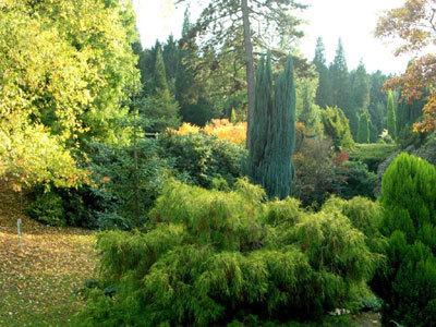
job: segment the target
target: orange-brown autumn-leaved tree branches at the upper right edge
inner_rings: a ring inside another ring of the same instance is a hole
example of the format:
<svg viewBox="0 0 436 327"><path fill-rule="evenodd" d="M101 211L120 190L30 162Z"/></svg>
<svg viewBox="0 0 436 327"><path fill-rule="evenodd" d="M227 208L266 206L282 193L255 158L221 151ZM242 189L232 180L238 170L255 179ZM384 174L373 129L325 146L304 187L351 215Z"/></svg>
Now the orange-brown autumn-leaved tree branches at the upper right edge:
<svg viewBox="0 0 436 327"><path fill-rule="evenodd" d="M403 7L392 9L379 19L375 36L402 40L396 56L423 51L436 41L435 11L435 0L407 0ZM401 95L408 102L424 97L424 121L415 124L415 132L436 129L435 65L435 55L422 56L411 62L403 75L390 78L384 87L385 90L401 87ZM425 92L428 92L427 96Z"/></svg>

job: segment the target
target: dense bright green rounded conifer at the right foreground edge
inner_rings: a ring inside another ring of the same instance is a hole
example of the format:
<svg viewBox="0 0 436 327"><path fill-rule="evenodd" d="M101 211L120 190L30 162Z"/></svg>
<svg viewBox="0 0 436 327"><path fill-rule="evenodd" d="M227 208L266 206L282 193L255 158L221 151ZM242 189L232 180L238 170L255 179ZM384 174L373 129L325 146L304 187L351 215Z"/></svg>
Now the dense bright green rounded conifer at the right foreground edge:
<svg viewBox="0 0 436 327"><path fill-rule="evenodd" d="M436 171L423 159L401 154L382 184L387 266L374 288L385 301L386 322L433 326L436 322Z"/></svg>

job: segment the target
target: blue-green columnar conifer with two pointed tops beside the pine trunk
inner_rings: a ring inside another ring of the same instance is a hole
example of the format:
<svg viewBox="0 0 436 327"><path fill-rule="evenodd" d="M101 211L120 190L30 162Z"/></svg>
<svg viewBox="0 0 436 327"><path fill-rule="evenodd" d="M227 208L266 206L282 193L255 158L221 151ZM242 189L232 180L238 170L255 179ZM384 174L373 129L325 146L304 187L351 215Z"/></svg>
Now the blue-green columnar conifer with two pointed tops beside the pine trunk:
<svg viewBox="0 0 436 327"><path fill-rule="evenodd" d="M293 62L289 56L278 76L272 100L270 52L262 57L256 75L256 106L250 126L249 170L269 197L286 198L294 175L295 87Z"/></svg>

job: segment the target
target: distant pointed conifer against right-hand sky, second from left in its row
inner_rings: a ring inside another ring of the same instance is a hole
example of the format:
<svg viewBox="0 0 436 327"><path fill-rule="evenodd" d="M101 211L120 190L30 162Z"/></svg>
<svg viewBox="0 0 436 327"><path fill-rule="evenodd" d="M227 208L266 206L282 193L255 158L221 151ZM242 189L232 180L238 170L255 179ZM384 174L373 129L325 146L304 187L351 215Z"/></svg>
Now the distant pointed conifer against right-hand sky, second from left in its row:
<svg viewBox="0 0 436 327"><path fill-rule="evenodd" d="M351 106L351 86L342 40L339 38L334 62L330 64L332 104L343 110L350 121L351 134L358 132L358 114Z"/></svg>

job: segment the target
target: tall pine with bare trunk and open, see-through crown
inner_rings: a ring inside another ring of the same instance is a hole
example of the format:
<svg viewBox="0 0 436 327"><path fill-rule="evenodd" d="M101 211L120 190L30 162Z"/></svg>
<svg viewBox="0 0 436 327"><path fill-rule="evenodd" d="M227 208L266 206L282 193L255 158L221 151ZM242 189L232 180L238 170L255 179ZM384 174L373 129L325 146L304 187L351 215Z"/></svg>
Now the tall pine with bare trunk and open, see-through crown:
<svg viewBox="0 0 436 327"><path fill-rule="evenodd" d="M177 3L185 2L179 0ZM230 1L205 1L205 8L192 29L192 35L199 35L203 51L220 49L229 36L242 35L242 43L235 43L228 51L244 53L239 60L245 65L249 112L247 121L255 106L255 74L253 46L258 49L271 48L274 46L272 35L279 35L288 43L302 36L296 29L301 21L291 15L292 9L304 9L305 5L294 0L230 0ZM252 28L254 25L254 28ZM225 27L226 26L226 27ZM243 45L243 51L241 50ZM217 55L226 52L217 51ZM250 129L247 129L250 131ZM250 133L247 134L247 146L250 146Z"/></svg>

